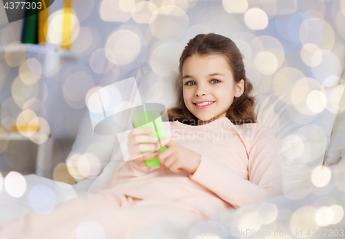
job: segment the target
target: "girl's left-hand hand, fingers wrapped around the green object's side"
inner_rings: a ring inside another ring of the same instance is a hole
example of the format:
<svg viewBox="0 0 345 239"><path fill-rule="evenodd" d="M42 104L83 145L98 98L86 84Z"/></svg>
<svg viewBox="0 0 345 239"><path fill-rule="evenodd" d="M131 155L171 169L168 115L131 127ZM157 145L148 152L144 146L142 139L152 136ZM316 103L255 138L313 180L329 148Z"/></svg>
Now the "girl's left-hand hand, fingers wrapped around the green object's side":
<svg viewBox="0 0 345 239"><path fill-rule="evenodd" d="M158 153L152 152L143 156L142 152L157 151L159 149L158 138L148 135L152 133L152 128L134 128L128 134L128 153L130 160L139 166L146 166L145 160L150 160L156 157ZM140 143L155 143L155 144L140 144Z"/></svg>

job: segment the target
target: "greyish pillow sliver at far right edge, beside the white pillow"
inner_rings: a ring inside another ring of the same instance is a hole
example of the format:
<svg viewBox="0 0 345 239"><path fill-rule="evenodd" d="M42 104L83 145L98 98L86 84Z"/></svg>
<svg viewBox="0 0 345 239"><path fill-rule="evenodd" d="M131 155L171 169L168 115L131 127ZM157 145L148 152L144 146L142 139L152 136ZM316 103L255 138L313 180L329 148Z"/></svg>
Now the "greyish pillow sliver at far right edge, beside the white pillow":
<svg viewBox="0 0 345 239"><path fill-rule="evenodd" d="M345 87L345 85L342 85ZM345 92L340 99L339 111L335 118L331 142L329 143L324 158L326 165L337 164L342 159L342 153L345 157Z"/></svg>

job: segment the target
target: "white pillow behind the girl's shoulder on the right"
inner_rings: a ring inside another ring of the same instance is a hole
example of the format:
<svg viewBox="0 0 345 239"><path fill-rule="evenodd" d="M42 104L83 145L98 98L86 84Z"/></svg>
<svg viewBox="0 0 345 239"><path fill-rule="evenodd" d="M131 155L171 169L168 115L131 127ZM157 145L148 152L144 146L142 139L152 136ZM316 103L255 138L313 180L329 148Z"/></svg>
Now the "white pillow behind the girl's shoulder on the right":
<svg viewBox="0 0 345 239"><path fill-rule="evenodd" d="M311 172L322 165L343 91L342 86L330 86L255 96L257 122L273 128L277 136L286 195L311 185ZM290 197L303 198L310 190Z"/></svg>

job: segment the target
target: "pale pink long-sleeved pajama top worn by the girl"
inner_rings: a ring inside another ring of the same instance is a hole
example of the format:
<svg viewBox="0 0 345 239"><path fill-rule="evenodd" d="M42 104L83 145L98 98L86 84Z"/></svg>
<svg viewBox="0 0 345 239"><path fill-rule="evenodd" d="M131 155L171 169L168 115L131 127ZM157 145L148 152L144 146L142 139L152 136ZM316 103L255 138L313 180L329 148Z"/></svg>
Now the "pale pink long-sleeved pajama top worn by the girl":
<svg viewBox="0 0 345 239"><path fill-rule="evenodd" d="M173 173L128 161L109 188L132 198L188 205L208 218L282 194L277 139L270 128L234 125L227 117L200 126L169 123L171 139L201 155L195 173Z"/></svg>

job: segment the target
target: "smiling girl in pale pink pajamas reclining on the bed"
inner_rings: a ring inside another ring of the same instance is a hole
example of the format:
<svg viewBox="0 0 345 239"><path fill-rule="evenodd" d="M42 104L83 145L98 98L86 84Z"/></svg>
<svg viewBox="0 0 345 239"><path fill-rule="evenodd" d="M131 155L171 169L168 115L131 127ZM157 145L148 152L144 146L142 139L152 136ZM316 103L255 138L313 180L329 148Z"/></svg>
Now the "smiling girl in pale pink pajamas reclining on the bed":
<svg viewBox="0 0 345 239"><path fill-rule="evenodd" d="M77 238L92 225L120 238L162 220L186 227L281 194L277 140L255 123L252 88L233 41L214 33L190 39L180 58L177 106L168 109L168 149L142 156L159 142L150 128L133 129L131 160L117 166L107 189L49 215L30 213L0 228L0 238ZM161 167L146 166L155 156Z"/></svg>

